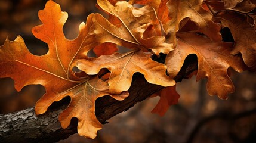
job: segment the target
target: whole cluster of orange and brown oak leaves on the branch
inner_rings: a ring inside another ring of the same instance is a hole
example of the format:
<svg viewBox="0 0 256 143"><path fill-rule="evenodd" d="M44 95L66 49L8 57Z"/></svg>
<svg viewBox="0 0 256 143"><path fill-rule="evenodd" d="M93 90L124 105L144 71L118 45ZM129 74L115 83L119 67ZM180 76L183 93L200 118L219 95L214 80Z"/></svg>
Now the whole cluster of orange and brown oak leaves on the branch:
<svg viewBox="0 0 256 143"><path fill-rule="evenodd" d="M95 138L102 128L94 113L95 100L105 95L124 100L134 73L166 87L157 93L161 98L152 111L163 116L178 102L174 77L190 54L198 58L196 80L207 78L208 93L222 99L235 90L229 67L238 72L256 68L256 1L98 0L96 6L108 17L88 15L77 38L70 40L63 33L67 13L48 1L38 13L42 24L32 29L48 44L45 55L30 54L21 36L0 47L0 77L13 78L17 91L32 84L45 87L36 114L70 96L59 120L67 128L76 117L79 135ZM224 27L230 29L233 42L222 40ZM119 53L121 46L129 52ZM88 56L91 50L97 57ZM162 55L162 63L152 58ZM74 67L81 71L74 72Z"/></svg>

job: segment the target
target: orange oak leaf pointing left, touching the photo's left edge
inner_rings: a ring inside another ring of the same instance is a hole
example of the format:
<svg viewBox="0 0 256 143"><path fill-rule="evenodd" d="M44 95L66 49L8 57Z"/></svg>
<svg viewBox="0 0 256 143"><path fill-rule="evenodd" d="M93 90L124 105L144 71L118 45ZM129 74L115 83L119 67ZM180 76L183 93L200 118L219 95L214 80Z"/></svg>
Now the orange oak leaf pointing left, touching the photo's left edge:
<svg viewBox="0 0 256 143"><path fill-rule="evenodd" d="M57 55L51 55L50 52L42 56L30 54L20 36L14 41L7 39L0 47L0 55L0 77L13 78L17 91L26 85L41 84L46 88L45 96L53 97L55 92L81 83L65 77L66 73L57 60Z"/></svg>

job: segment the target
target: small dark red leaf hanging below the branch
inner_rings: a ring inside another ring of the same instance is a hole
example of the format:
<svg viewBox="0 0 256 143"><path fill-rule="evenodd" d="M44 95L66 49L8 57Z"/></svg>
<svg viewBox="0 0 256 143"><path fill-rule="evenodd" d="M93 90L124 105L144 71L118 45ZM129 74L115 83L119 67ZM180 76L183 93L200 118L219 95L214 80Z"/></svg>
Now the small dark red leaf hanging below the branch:
<svg viewBox="0 0 256 143"><path fill-rule="evenodd" d="M164 116L171 105L178 104L178 98L180 98L180 95L176 91L176 85L168 86L161 91L156 92L153 96L159 96L160 100L151 112L159 114L159 116Z"/></svg>

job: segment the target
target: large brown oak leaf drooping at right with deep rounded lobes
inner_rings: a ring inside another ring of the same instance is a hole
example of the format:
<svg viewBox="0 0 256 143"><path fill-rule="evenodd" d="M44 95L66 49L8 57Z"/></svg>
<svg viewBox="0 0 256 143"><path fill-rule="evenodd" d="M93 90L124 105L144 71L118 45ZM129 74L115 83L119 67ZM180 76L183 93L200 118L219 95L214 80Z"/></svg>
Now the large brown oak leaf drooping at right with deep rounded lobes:
<svg viewBox="0 0 256 143"><path fill-rule="evenodd" d="M209 95L218 95L222 99L234 92L227 69L232 67L238 72L245 69L245 64L239 55L231 55L233 43L215 42L196 33L177 35L177 47L166 57L168 74L175 77L183 66L185 58L190 54L198 57L198 73L196 80L208 78L207 90Z"/></svg>

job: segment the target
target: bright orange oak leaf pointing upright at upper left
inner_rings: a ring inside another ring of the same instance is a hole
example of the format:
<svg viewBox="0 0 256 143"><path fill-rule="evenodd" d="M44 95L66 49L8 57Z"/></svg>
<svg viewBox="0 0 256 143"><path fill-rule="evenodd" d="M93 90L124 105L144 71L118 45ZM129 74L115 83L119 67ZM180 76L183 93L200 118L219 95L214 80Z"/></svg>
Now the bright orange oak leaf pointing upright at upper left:
<svg viewBox="0 0 256 143"><path fill-rule="evenodd" d="M72 62L85 57L87 52L96 45L93 33L94 25L92 24L94 14L88 16L87 25L80 24L79 36L72 41L66 39L63 33L67 13L60 10L60 5L48 1L45 9L38 12L38 16L43 24L33 27L33 35L48 44L48 59L57 60L55 62L61 66L60 70L64 71L63 77L67 76L67 79L78 80L72 73ZM53 66L55 67L57 64L53 63Z"/></svg>

